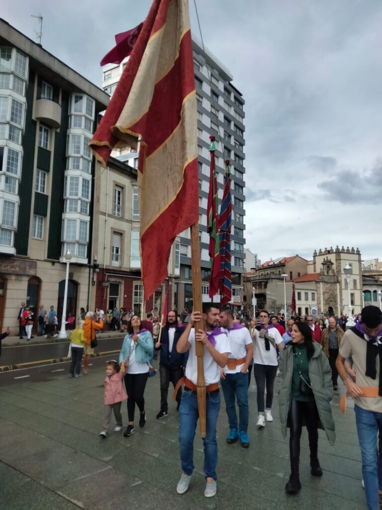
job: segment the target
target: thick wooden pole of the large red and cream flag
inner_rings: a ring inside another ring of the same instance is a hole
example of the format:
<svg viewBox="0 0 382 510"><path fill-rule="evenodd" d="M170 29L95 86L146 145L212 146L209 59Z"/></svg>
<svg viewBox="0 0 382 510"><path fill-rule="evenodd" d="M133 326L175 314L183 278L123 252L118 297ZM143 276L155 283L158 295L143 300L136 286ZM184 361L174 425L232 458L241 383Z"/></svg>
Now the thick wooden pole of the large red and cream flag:
<svg viewBox="0 0 382 510"><path fill-rule="evenodd" d="M193 273L193 309L202 313L202 278L200 274L200 247L199 247L199 223L191 226L191 268ZM203 320L196 322L195 333L198 329L203 329ZM198 379L197 396L200 434L202 438L206 437L206 382L204 380L203 354L204 346L202 342L195 342L195 351L198 358Z"/></svg>

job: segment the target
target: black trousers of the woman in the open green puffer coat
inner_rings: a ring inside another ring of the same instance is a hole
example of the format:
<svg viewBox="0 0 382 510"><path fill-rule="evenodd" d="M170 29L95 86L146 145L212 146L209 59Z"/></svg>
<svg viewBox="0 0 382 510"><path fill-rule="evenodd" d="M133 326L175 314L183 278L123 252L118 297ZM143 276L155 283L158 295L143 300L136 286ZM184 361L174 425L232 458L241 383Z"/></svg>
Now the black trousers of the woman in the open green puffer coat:
<svg viewBox="0 0 382 510"><path fill-rule="evenodd" d="M289 455L292 476L298 476L298 462L300 458L300 438L303 429L303 419L308 430L311 461L317 458L318 450L318 410L314 398L308 402L292 400L290 403L288 423L290 427Z"/></svg>

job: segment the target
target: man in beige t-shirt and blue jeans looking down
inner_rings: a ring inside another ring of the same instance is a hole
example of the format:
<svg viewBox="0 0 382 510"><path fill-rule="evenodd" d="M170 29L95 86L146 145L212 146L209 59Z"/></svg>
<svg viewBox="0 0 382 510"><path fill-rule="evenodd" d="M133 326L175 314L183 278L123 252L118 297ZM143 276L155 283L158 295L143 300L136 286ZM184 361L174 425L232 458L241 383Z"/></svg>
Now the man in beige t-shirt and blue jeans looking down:
<svg viewBox="0 0 382 510"><path fill-rule="evenodd" d="M377 432L382 426L382 312L369 305L361 312L361 321L351 327L342 338L337 370L347 392L356 400L354 411L358 440L362 455L362 475L369 510L378 510L382 501L382 473L377 469ZM351 356L356 382L346 373L344 363ZM364 396L362 388L376 388L378 396ZM380 480L378 484L378 478Z"/></svg>

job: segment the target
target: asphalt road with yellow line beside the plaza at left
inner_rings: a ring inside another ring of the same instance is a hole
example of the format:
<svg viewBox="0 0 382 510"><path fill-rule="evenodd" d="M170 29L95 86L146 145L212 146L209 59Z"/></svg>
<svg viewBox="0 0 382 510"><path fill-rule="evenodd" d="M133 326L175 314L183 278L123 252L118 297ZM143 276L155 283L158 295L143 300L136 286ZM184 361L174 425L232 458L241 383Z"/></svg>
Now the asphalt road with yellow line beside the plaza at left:
<svg viewBox="0 0 382 510"><path fill-rule="evenodd" d="M100 367L105 357L115 358L122 346L123 336L114 338L98 338L95 349L97 356L92 358L93 366ZM0 358L0 387L4 387L25 379L33 381L49 380L54 375L69 374L70 361L58 361L66 358L69 350L69 341L52 342L44 344L14 345L3 347ZM20 368L4 370L1 367Z"/></svg>

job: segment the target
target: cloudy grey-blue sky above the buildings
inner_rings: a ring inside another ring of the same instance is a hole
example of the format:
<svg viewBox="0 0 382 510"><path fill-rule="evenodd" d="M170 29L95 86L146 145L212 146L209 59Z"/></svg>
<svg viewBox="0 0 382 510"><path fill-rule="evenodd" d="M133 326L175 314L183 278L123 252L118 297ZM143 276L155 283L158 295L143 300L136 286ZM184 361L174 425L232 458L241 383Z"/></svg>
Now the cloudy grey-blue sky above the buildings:
<svg viewBox="0 0 382 510"><path fill-rule="evenodd" d="M380 0L196 0L245 99L246 246L262 261L337 244L382 258ZM65 9L63 9L65 5ZM1 17L101 84L114 35L151 0L13 0ZM194 0L192 31L200 38Z"/></svg>

